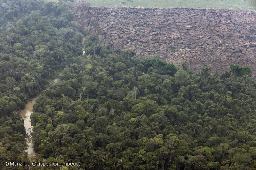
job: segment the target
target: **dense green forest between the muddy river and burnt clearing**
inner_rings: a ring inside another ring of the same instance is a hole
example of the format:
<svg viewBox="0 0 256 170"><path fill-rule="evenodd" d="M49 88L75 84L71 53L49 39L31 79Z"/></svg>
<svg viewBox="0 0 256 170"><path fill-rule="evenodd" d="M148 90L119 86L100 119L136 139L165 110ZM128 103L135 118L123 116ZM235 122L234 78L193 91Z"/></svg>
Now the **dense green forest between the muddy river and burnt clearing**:
<svg viewBox="0 0 256 170"><path fill-rule="evenodd" d="M85 169L254 168L252 78L219 79L208 67L192 74L111 47L94 55L95 46L106 48L97 42L88 37L92 53L78 56L34 105L41 112L31 116L35 148L43 158L62 155Z"/></svg>

